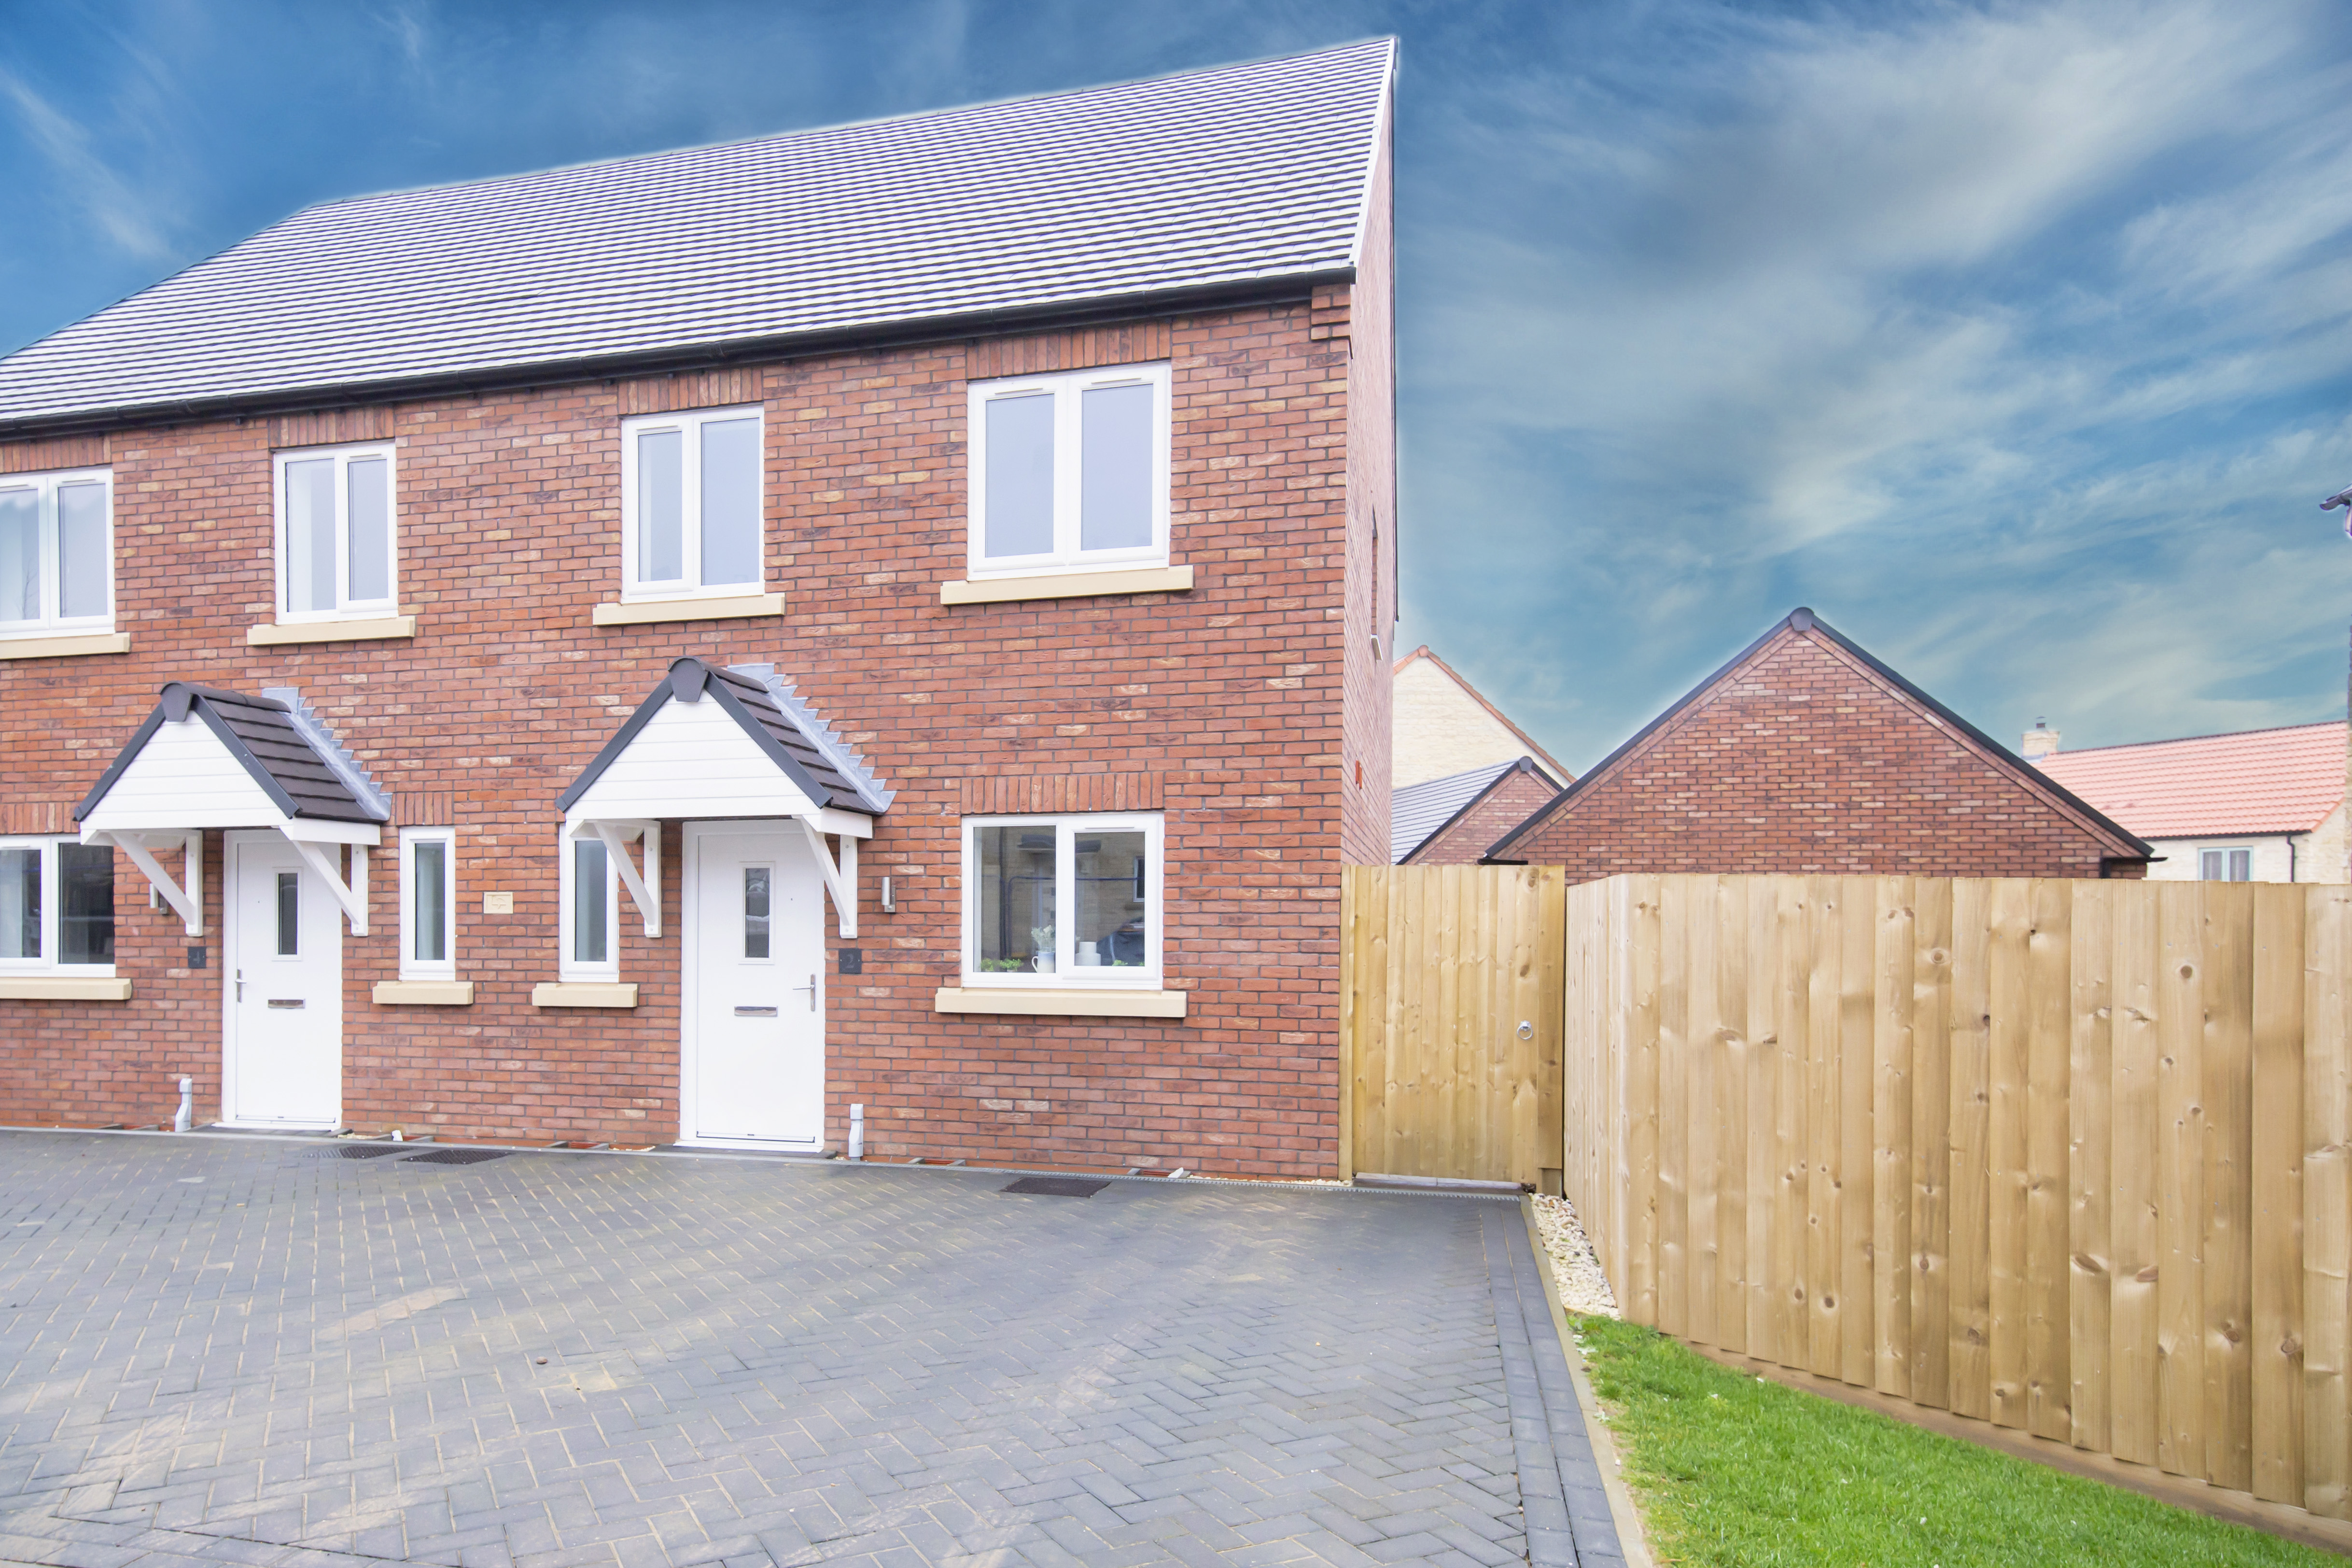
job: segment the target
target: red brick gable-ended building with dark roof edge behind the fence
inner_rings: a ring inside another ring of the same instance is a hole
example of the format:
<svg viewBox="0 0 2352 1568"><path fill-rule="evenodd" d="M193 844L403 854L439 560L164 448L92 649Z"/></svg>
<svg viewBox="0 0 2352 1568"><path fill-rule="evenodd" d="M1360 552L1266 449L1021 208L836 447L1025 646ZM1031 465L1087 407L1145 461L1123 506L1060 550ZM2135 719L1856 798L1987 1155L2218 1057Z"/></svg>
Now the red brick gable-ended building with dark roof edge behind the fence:
<svg viewBox="0 0 2352 1568"><path fill-rule="evenodd" d="M1799 609L1486 851L1616 872L2140 877L2154 851Z"/></svg>

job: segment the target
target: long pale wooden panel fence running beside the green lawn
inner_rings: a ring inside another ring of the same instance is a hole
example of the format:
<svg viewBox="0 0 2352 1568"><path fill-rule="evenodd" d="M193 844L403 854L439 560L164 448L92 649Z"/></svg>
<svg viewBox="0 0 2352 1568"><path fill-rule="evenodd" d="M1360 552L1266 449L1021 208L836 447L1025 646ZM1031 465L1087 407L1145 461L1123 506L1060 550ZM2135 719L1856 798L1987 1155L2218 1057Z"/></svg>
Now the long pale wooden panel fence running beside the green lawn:
<svg viewBox="0 0 2352 1568"><path fill-rule="evenodd" d="M2352 889L1566 891L1562 1168L1635 1321L2352 1516Z"/></svg>

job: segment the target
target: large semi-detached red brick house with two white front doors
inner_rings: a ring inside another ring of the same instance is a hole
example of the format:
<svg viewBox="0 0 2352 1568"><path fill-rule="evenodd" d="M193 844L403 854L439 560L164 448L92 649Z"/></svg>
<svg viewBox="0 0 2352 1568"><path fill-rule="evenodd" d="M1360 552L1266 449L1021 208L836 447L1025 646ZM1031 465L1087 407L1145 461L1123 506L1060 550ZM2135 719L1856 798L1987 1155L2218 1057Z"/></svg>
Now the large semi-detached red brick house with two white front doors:
<svg viewBox="0 0 2352 1568"><path fill-rule="evenodd" d="M1392 71L329 202L0 362L0 1119L1327 1173Z"/></svg>

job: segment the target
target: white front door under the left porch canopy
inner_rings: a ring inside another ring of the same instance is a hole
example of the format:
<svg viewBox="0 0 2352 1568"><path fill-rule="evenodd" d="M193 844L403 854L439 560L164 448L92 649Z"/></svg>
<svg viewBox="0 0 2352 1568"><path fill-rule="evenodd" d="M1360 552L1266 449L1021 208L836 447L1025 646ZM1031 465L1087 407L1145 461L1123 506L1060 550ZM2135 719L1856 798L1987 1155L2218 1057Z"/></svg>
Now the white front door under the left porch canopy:
<svg viewBox="0 0 2352 1568"><path fill-rule="evenodd" d="M343 1117L343 914L275 832L228 835L221 950L226 1119L336 1126Z"/></svg>

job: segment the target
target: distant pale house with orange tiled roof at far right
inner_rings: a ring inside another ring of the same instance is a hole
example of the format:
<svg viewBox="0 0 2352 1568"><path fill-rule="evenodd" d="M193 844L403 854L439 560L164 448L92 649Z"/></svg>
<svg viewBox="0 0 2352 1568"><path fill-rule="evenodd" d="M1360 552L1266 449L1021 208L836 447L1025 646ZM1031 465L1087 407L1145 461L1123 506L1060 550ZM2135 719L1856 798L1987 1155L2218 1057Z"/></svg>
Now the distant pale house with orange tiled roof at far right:
<svg viewBox="0 0 2352 1568"><path fill-rule="evenodd" d="M2079 752L2037 724L2025 755L2147 839L2150 879L2352 882L2340 719Z"/></svg>

